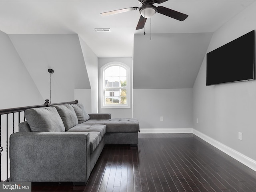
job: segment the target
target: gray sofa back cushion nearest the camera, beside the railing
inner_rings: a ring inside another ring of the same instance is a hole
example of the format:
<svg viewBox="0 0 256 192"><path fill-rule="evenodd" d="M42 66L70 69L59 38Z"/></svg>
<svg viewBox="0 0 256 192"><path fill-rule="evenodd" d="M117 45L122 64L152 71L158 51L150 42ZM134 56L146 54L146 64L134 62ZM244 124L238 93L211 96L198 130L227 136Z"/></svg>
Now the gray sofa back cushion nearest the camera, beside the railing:
<svg viewBox="0 0 256 192"><path fill-rule="evenodd" d="M24 116L32 132L64 132L64 124L54 107L28 109Z"/></svg>

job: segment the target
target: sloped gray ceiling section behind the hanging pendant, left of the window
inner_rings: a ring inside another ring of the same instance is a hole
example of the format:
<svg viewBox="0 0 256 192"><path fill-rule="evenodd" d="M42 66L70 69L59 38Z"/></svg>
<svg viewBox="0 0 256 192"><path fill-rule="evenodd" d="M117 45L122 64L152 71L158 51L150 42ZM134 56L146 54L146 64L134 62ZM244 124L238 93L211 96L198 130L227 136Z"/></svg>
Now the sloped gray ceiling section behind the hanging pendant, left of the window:
<svg viewBox="0 0 256 192"><path fill-rule="evenodd" d="M43 98L52 103L74 100L74 89L90 82L77 34L9 35Z"/></svg>

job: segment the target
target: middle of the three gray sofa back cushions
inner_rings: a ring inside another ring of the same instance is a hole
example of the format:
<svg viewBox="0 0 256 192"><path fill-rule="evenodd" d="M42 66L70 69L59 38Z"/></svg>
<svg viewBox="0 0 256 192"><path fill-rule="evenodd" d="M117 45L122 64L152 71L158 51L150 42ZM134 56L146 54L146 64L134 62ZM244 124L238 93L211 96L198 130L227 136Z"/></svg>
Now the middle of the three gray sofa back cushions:
<svg viewBox="0 0 256 192"><path fill-rule="evenodd" d="M56 105L53 107L58 111L66 131L78 124L76 112L71 105Z"/></svg>

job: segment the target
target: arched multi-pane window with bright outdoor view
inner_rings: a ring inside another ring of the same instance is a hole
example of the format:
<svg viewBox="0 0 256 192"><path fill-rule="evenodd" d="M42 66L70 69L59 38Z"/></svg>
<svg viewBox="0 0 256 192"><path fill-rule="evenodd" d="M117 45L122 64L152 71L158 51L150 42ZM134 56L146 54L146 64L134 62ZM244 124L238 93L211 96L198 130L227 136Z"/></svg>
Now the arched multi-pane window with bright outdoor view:
<svg viewBox="0 0 256 192"><path fill-rule="evenodd" d="M130 69L124 64L106 64L101 70L102 108L130 108Z"/></svg>

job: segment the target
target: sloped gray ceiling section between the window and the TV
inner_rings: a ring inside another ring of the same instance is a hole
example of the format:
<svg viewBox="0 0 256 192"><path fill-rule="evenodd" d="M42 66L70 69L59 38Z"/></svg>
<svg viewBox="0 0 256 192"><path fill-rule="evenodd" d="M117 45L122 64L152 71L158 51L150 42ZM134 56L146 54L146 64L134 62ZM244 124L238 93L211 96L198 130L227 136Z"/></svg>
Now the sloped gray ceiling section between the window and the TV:
<svg viewBox="0 0 256 192"><path fill-rule="evenodd" d="M135 34L135 89L192 88L212 33Z"/></svg>

